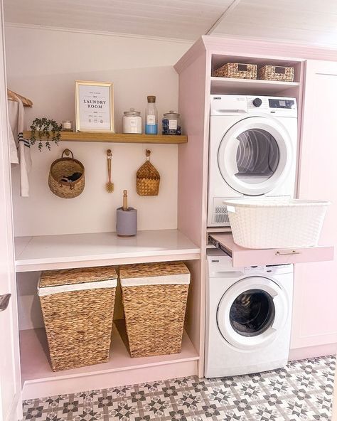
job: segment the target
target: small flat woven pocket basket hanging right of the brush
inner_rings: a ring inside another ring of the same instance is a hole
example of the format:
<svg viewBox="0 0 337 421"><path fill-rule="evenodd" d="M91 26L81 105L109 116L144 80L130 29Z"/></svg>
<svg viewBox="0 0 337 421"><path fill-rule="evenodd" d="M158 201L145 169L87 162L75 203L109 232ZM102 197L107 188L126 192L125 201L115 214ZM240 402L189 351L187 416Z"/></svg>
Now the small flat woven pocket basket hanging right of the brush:
<svg viewBox="0 0 337 421"><path fill-rule="evenodd" d="M150 162L150 154L151 151L146 149L146 161L137 171L137 193L139 196L158 196L159 193L160 175Z"/></svg>

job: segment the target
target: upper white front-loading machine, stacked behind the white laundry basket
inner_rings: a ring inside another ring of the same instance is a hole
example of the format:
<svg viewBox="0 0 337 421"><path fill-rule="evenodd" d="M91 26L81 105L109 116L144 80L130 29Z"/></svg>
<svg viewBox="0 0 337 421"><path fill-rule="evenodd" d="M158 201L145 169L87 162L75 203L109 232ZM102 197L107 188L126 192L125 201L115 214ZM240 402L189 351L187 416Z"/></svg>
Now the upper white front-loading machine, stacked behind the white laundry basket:
<svg viewBox="0 0 337 421"><path fill-rule="evenodd" d="M294 197L297 107L289 97L211 95L208 226L228 226L223 201Z"/></svg>

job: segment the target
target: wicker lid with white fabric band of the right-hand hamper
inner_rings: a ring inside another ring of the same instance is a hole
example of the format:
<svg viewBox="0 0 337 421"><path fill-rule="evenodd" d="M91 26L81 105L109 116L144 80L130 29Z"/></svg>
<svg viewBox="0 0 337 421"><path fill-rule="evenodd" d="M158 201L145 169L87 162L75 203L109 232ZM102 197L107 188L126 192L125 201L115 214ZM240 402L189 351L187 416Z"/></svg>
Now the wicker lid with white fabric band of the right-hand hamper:
<svg viewBox="0 0 337 421"><path fill-rule="evenodd" d="M183 262L122 265L119 279L122 287L151 284L189 284L191 274Z"/></svg>

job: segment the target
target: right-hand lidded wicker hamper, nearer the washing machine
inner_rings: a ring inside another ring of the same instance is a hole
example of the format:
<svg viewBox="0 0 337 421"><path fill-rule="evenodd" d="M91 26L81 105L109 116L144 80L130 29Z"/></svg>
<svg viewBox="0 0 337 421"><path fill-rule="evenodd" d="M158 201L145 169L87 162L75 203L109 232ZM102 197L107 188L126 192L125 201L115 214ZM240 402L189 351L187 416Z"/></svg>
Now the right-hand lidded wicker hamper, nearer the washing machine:
<svg viewBox="0 0 337 421"><path fill-rule="evenodd" d="M190 277L183 262L119 267L132 357L181 352Z"/></svg>

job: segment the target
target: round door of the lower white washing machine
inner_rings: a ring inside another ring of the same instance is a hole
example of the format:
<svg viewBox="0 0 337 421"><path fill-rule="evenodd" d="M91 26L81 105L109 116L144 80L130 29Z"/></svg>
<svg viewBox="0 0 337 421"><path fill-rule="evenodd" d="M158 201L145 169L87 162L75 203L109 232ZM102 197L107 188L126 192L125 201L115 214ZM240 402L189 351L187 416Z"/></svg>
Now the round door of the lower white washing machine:
<svg viewBox="0 0 337 421"><path fill-rule="evenodd" d="M287 296L276 282L262 276L246 277L223 294L218 329L236 348L259 348L274 341L288 314Z"/></svg>

